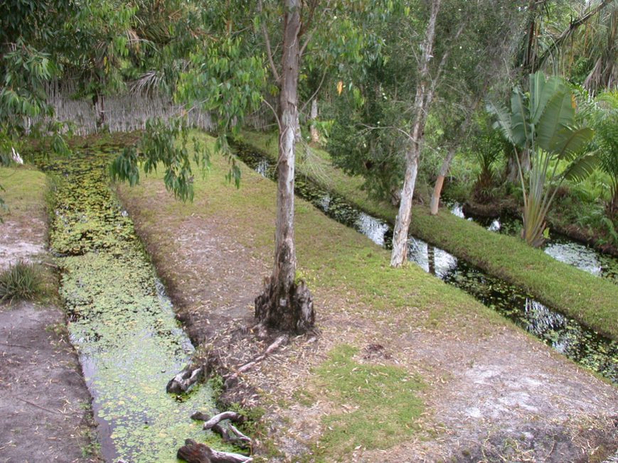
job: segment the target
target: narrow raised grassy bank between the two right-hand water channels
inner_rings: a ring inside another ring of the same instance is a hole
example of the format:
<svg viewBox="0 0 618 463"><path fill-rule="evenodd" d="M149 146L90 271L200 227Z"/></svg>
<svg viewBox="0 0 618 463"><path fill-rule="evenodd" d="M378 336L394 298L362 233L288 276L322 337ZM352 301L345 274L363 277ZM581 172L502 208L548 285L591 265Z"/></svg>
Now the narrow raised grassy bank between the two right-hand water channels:
<svg viewBox="0 0 618 463"><path fill-rule="evenodd" d="M276 159L277 138L246 132L243 141ZM362 178L335 168L329 153L314 149L299 156L297 171L390 223L397 209L371 200L361 190ZM513 236L487 231L478 224L442 209L432 217L429 208L415 205L410 233L473 263L491 275L517 285L534 298L564 312L612 339L618 339L618 286L555 261Z"/></svg>

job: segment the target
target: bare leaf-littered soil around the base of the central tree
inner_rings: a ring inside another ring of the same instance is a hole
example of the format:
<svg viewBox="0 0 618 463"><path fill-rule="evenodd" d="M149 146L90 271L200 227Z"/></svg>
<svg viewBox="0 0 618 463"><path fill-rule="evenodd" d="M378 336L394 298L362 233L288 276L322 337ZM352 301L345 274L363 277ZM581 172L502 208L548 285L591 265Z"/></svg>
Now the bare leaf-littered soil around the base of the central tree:
<svg viewBox="0 0 618 463"><path fill-rule="evenodd" d="M171 214L174 200L161 183L123 197L193 340L228 352L230 366L261 352L267 342L231 335L251 324L252 299L270 271L270 255L256 251L252 233L225 214L191 213L204 207L199 202ZM280 461L311 461L322 418L345 413L312 380L312 369L342 343L360 349L361 363L403 366L428 385L415 438L384 450L358 446L345 461L600 462L616 455L617 388L508 322L479 337L457 324L438 331L402 323L419 318L417 309L372 310L354 288L318 287L314 299L319 335L292 339L242 376L255 391L243 403L267 408ZM298 391L316 400L299 400Z"/></svg>

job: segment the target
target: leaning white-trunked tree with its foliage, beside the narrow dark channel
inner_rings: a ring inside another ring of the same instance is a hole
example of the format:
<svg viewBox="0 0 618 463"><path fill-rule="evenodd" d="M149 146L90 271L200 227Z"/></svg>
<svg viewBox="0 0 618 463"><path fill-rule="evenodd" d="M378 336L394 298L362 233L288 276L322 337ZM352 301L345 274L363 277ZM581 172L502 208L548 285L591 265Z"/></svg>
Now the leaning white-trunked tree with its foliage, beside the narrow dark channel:
<svg viewBox="0 0 618 463"><path fill-rule="evenodd" d="M422 145L425 142L427 116L430 114L436 94L445 88L444 83L447 82L445 76L459 75L463 82L469 81L468 85L472 95L467 96L467 99L471 103L469 104L468 115L462 121L462 128L459 129L459 136L464 136L472 111L478 104L479 97L489 86L492 72L484 70L484 72L476 74L472 78L469 76L466 78L465 70L470 65L461 59L462 55L467 56L469 60L476 59L479 61L480 67L483 67L494 64L496 56L504 57L505 51L509 50L508 40L505 42L501 39L501 37L504 37L505 28L500 26L499 21L500 13L507 13L505 16L513 14L509 2L491 2L492 11L499 13L498 18L489 15L491 19L484 23L482 18L484 18L487 9L490 8L488 2L476 1L462 4L455 1L432 0L430 3L430 15L425 28L425 37L420 47L422 55L417 61L415 97L410 111L411 126L407 128L407 141L405 141L403 148L405 151L405 174L393 234L393 252L390 258L390 265L393 267L401 266L407 258L407 234L412 214L412 196ZM479 33L479 31L481 32ZM477 55L479 50L473 52L472 55L459 53L467 40L472 42L476 40L476 46L486 52L485 58ZM488 43L491 43L492 40L495 48L491 50L490 47L488 50ZM480 64L483 61L485 61L484 65ZM454 81L457 81L457 77ZM449 163L448 158L449 155L445 160L446 165ZM437 185L435 191L440 189L441 185ZM437 203L437 192L434 202Z"/></svg>

